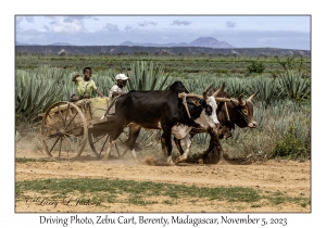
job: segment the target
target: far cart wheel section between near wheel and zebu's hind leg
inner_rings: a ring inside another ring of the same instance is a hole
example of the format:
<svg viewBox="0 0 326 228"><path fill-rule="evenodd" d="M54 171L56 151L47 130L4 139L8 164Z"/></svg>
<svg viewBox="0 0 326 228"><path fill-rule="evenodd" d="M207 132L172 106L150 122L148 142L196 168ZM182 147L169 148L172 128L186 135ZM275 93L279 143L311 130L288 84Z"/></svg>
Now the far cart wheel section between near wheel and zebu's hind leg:
<svg viewBox="0 0 326 228"><path fill-rule="evenodd" d="M97 136L92 131L90 131L88 134L89 145L98 159L100 159L101 153L105 152L105 150L108 149L106 145L109 143L109 139L110 139L109 134L104 134L104 135L100 135L100 136Z"/></svg>

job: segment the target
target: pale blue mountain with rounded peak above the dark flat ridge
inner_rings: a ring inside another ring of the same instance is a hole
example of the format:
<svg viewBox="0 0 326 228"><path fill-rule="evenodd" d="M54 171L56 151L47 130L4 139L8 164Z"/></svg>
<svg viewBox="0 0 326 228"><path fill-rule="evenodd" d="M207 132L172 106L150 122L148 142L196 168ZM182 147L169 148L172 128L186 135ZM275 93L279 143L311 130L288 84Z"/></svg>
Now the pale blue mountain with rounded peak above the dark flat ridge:
<svg viewBox="0 0 326 228"><path fill-rule="evenodd" d="M178 43L151 43L151 42L146 42L146 43L137 43L137 42L130 42L126 41L121 43L120 46L140 46L140 47L203 47L203 48L235 48L234 46L224 42L224 41L218 41L217 39L213 37L200 37L192 42L178 42Z"/></svg>

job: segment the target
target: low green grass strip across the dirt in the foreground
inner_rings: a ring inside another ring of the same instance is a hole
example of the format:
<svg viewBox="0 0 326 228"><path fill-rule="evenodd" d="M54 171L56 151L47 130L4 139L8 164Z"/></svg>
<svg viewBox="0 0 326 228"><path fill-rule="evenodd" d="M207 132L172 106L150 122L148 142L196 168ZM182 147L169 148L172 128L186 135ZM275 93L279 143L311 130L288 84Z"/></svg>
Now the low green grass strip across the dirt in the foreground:
<svg viewBox="0 0 326 228"><path fill-rule="evenodd" d="M173 183L160 183L152 181L135 180L109 180L109 179L45 179L16 181L16 200L26 201L30 195L25 192L32 191L35 194L51 195L52 200L62 200L67 195L86 195L91 198L98 205L112 203L129 203L134 205L148 204L174 204L177 200L191 201L205 199L206 201L228 201L252 203L253 207L260 205L263 200L269 204L297 203L301 206L310 204L310 199L302 195L288 197L284 192L263 192L251 188L242 187L196 187ZM122 195L125 195L121 198ZM156 198L164 198L162 202ZM203 200L200 200L203 201Z"/></svg>

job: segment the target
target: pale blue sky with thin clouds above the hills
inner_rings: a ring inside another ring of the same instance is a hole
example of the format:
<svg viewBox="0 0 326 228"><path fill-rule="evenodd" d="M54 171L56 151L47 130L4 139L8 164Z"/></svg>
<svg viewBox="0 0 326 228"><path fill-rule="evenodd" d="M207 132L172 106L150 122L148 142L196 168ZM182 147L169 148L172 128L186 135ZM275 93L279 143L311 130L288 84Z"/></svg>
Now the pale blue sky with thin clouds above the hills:
<svg viewBox="0 0 326 228"><path fill-rule="evenodd" d="M15 41L118 46L213 37L236 48L311 50L311 15L15 15Z"/></svg>

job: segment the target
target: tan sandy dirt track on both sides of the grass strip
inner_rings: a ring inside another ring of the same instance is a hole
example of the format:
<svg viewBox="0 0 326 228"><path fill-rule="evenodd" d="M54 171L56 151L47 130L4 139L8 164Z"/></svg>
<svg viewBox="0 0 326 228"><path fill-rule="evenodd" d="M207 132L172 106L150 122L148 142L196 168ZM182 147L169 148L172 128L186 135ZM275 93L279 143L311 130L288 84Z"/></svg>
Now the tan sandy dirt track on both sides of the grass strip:
<svg viewBox="0 0 326 228"><path fill-rule="evenodd" d="M16 150L16 157L42 159L41 152ZM293 161L267 161L261 164L238 165L227 162L213 165L185 164L175 166L154 166L139 164L131 159L97 161L85 156L75 162L28 162L15 164L15 179L34 180L47 178L109 178L137 181L156 181L198 187L250 187L263 192L285 192L288 197L311 198L311 163ZM36 195L34 192L24 194ZM16 201L16 212L303 212L310 213L311 206L296 203L272 205L260 202L252 206L242 202L202 199L198 202L184 200L176 204L133 204L114 203L104 208L96 205L73 206L59 203L53 206L40 205L45 195L38 195L35 202ZM123 197L123 195L122 195ZM46 203L45 203L46 204Z"/></svg>

